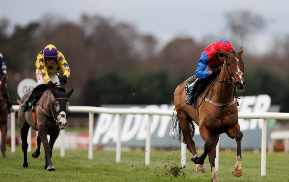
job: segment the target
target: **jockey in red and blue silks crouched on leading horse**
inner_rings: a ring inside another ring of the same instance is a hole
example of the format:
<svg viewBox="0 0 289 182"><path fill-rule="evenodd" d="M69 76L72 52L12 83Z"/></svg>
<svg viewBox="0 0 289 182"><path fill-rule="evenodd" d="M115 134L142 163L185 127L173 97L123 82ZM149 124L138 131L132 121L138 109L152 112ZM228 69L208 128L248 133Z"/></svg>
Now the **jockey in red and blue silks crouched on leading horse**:
<svg viewBox="0 0 289 182"><path fill-rule="evenodd" d="M200 95L206 88L210 76L220 74L220 67L225 61L225 56L221 53L220 49L226 52L234 51L230 42L225 39L219 39L216 43L210 44L201 54L199 64L196 70L197 80L192 87L192 90L185 98L188 105L193 104L193 96L197 92Z"/></svg>

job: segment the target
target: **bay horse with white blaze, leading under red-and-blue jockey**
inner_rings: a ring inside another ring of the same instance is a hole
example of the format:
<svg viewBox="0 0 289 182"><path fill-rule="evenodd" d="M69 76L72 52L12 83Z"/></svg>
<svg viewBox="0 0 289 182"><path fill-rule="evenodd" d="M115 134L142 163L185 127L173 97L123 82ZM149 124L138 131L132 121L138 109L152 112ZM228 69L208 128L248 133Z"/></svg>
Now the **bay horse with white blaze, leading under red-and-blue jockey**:
<svg viewBox="0 0 289 182"><path fill-rule="evenodd" d="M227 53L221 50L221 52L226 57L221 72L217 77L211 78L210 84L202 92L201 97L197 98L197 104L190 106L185 102L185 85L188 80L190 81L188 84L193 83L196 80L195 76L188 78L181 85L178 85L174 92L174 105L177 117L173 121L173 131L179 130L179 140L187 144L188 150L193 155L191 160L197 164L196 171L198 173L206 171L203 164L206 156L209 154L212 171L211 180L213 182L218 181L215 158L216 146L222 133L226 133L230 138L236 139L236 165L233 168L232 174L234 176L242 175L241 140L243 134L240 131L238 123L237 102L233 96L233 92L234 88L237 91L242 91L245 86L243 78L244 62L241 58L243 49L241 48L237 54L235 51ZM213 84L213 87L211 87L211 84ZM202 102L199 106L206 92L207 101ZM224 104L221 105L221 103ZM199 106L198 110L197 106ZM195 142L192 139L195 134L195 127L192 121L199 126L200 135L205 142L204 153L201 156L197 154Z"/></svg>

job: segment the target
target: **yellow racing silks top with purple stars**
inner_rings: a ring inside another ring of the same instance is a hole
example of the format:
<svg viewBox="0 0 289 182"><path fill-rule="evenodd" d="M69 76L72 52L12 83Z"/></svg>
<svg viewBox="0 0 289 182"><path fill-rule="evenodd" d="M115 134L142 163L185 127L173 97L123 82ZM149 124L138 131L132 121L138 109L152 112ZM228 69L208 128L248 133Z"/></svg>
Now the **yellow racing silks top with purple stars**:
<svg viewBox="0 0 289 182"><path fill-rule="evenodd" d="M38 72L41 76L43 76L44 80L46 81L46 83L48 83L49 81L51 81L51 79L49 78L48 74L50 73L58 73L60 71L60 69L62 69L63 71L63 75L66 75L67 78L70 76L70 69L69 66L64 58L64 55L57 51L57 59L54 61L54 63L52 64L52 66L50 66L44 59L43 56L43 51L41 51L38 56L37 56L37 60L35 63L36 68L38 69Z"/></svg>

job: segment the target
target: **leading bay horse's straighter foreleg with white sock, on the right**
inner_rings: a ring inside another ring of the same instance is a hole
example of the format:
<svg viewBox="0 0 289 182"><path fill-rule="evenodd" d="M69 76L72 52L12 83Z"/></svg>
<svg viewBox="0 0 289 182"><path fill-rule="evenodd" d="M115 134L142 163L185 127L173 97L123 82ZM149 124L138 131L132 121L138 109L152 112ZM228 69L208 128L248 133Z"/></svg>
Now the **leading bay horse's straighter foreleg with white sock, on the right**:
<svg viewBox="0 0 289 182"><path fill-rule="evenodd" d="M236 165L233 168L232 174L234 176L240 177L242 176L242 167L241 167L241 140L243 138L243 133L240 131L239 123L237 122L231 129L228 129L227 135L236 139L237 142L237 155L236 155Z"/></svg>

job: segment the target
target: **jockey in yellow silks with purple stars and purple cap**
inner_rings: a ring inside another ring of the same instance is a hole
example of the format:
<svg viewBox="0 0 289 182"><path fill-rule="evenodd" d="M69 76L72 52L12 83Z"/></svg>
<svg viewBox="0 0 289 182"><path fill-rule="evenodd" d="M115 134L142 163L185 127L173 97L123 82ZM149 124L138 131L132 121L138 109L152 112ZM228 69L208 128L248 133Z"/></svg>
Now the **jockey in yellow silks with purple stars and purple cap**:
<svg viewBox="0 0 289 182"><path fill-rule="evenodd" d="M49 44L41 51L35 63L37 85L47 84L48 87L54 88L55 84L59 85L57 74L61 69L63 76L60 78L61 83L66 83L70 75L69 66L64 58L64 55L57 48ZM22 110L26 112L29 109L28 101L33 98L32 92L28 99L22 104Z"/></svg>

